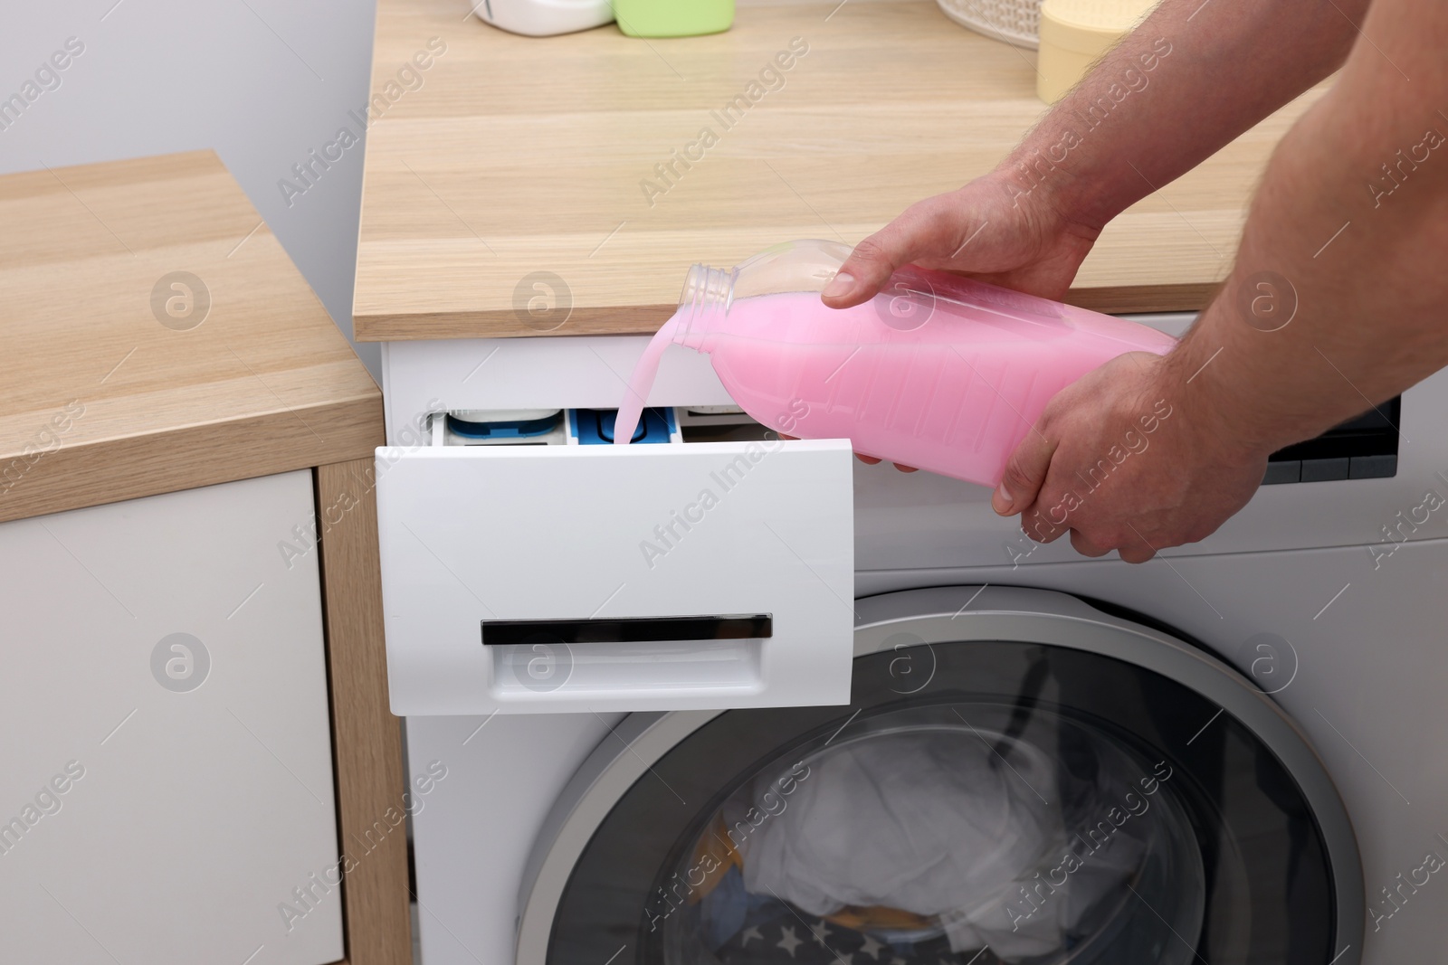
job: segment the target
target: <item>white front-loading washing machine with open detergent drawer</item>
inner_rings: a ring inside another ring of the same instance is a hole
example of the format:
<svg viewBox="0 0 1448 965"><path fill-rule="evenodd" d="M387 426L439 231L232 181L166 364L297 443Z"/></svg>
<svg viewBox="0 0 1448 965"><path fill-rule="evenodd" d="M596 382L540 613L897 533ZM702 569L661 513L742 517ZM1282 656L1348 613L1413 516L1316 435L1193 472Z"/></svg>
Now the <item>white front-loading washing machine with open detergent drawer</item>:
<svg viewBox="0 0 1448 965"><path fill-rule="evenodd" d="M1128 566L643 341L385 349L423 965L1441 958L1448 379Z"/></svg>

